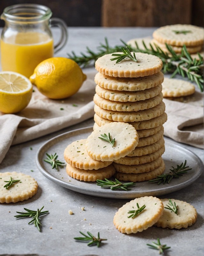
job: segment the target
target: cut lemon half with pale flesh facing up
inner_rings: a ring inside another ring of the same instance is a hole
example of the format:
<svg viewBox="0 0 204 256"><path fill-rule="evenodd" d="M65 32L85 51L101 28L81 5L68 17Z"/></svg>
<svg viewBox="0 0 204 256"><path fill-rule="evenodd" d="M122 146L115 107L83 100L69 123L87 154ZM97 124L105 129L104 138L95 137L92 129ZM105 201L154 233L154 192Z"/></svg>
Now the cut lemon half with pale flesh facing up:
<svg viewBox="0 0 204 256"><path fill-rule="evenodd" d="M33 86L28 78L11 71L0 72L0 111L17 113L30 102Z"/></svg>

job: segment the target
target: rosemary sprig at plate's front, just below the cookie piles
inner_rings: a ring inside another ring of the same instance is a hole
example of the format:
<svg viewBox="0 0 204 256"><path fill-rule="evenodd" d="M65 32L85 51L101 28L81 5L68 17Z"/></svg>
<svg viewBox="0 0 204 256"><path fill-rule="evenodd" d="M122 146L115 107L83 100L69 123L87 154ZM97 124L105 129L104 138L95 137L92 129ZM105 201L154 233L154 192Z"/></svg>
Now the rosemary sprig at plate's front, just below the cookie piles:
<svg viewBox="0 0 204 256"><path fill-rule="evenodd" d="M130 186L135 185L134 182L127 182L127 183L121 183L119 180L115 179L116 181L108 180L105 178L105 180L96 180L96 185L101 186L102 188L110 188L111 190L115 189L123 189L125 191L131 190L129 188Z"/></svg>

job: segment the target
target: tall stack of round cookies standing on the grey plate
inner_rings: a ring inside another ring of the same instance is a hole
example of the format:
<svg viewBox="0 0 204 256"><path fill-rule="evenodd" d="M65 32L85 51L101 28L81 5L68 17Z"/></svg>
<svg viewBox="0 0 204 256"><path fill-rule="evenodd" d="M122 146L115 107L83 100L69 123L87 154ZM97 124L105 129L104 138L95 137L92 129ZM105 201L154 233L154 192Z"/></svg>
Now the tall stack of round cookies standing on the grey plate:
<svg viewBox="0 0 204 256"><path fill-rule="evenodd" d="M162 124L167 120L162 101L162 61L145 53L135 56L138 62L125 58L116 63L110 60L112 54L99 58L95 63L99 73L94 95L94 129L116 121L131 124L138 132L137 147L113 160L115 177L133 182L151 180L163 173Z"/></svg>

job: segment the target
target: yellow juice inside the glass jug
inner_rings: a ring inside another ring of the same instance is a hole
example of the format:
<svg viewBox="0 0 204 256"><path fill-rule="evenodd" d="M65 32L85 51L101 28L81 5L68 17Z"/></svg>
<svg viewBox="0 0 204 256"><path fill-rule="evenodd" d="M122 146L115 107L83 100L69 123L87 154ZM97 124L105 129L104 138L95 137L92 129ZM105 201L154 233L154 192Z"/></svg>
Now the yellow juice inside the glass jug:
<svg viewBox="0 0 204 256"><path fill-rule="evenodd" d="M18 72L28 78L40 62L53 54L53 40L42 33L18 33L1 40L2 70Z"/></svg>

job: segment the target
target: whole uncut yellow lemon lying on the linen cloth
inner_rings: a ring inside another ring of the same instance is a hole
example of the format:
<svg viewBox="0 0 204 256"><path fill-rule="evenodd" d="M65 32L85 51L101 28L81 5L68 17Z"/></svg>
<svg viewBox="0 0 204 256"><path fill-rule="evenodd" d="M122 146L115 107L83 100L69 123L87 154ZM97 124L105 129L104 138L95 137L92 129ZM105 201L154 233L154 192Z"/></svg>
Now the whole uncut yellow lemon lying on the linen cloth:
<svg viewBox="0 0 204 256"><path fill-rule="evenodd" d="M48 98L64 99L75 94L86 78L75 61L53 57L43 60L35 68L30 81Z"/></svg>

